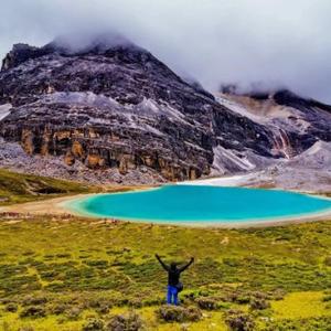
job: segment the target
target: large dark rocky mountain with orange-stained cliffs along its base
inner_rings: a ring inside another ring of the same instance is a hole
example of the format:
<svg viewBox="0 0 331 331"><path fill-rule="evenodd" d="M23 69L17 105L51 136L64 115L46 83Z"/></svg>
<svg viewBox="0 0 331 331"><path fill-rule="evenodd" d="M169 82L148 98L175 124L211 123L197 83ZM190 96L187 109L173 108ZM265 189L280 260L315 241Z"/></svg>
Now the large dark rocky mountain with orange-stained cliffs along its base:
<svg viewBox="0 0 331 331"><path fill-rule="evenodd" d="M264 125L189 85L149 52L126 43L68 51L17 45L3 61L0 135L28 154L72 167L150 168L167 180L211 172L215 148L279 158ZM228 163L228 162L227 162ZM233 166L224 164L228 171Z"/></svg>

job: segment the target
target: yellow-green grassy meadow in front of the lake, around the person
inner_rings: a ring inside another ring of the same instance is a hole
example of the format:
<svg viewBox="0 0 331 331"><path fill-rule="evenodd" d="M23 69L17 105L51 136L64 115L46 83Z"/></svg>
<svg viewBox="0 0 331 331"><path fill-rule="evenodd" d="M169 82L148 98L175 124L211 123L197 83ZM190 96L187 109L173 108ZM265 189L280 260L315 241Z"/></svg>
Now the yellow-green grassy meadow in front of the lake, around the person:
<svg viewBox="0 0 331 331"><path fill-rule="evenodd" d="M224 313L231 308L247 311L258 330L268 323L270 330L331 324L330 222L201 229L36 217L0 222L0 330L1 323L8 330L81 330L88 318L107 320L129 307L148 330L183 330L156 318L167 280L154 253L179 261L195 256L183 275L183 305L196 306L199 298L217 303L188 330L226 330ZM247 301L256 291L267 295L270 309L250 310ZM40 305L31 298L46 301L46 317L19 317ZM10 302L17 312L6 311Z"/></svg>

